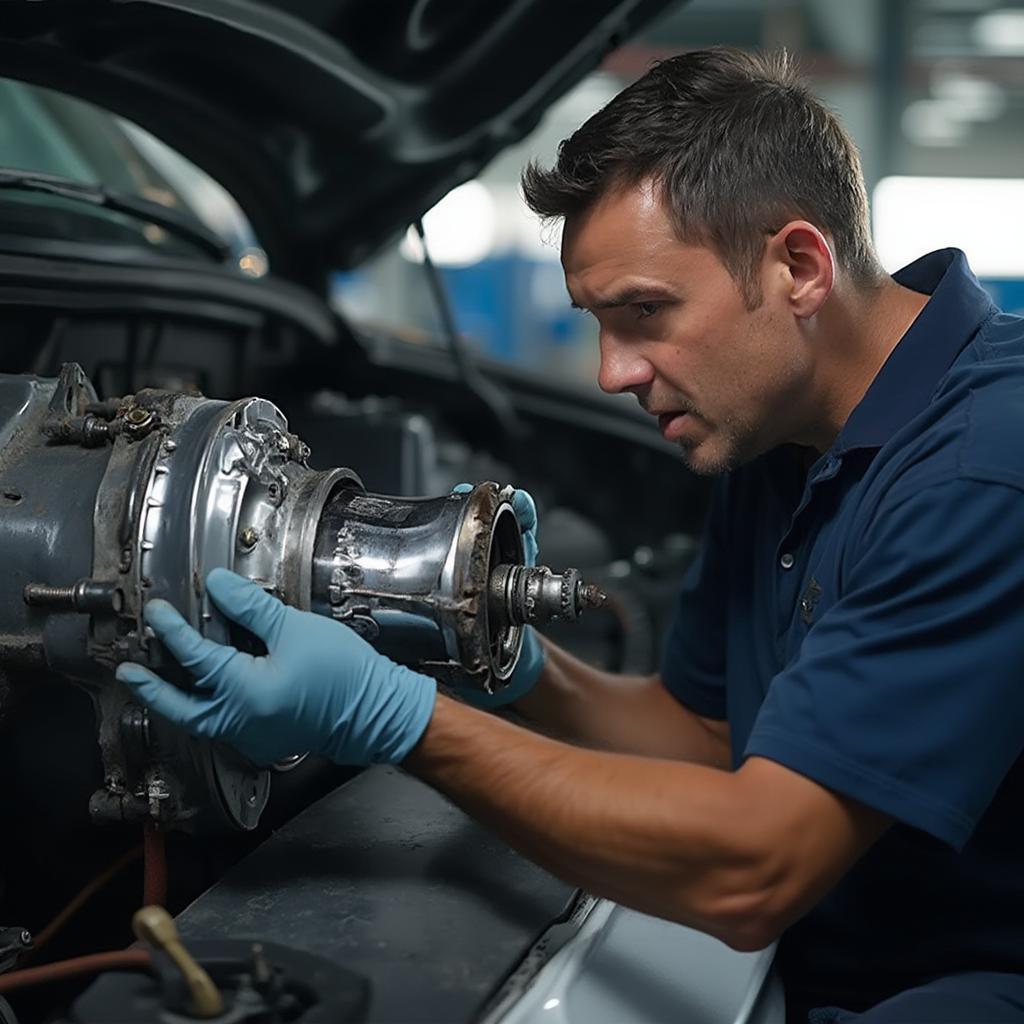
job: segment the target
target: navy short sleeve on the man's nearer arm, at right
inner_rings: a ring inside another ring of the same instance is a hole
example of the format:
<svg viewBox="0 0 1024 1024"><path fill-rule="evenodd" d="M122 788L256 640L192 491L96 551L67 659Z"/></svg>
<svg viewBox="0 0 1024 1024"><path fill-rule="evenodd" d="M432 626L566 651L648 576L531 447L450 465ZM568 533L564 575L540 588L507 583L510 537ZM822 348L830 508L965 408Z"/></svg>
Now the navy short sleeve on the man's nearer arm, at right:
<svg viewBox="0 0 1024 1024"><path fill-rule="evenodd" d="M769 758L961 849L1024 745L1024 495L956 479L872 516L769 687Z"/></svg>

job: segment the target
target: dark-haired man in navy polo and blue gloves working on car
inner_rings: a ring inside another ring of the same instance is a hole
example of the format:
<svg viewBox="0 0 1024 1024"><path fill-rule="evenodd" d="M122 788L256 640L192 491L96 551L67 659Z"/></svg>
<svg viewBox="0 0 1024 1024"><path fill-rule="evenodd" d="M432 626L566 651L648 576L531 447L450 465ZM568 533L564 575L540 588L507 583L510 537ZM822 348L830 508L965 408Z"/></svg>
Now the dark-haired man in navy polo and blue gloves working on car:
<svg viewBox="0 0 1024 1024"><path fill-rule="evenodd" d="M530 633L527 729L217 569L268 655L152 601L196 690L119 678L258 763L401 763L592 893L781 937L791 1021L1024 1021L1024 322L955 250L881 269L856 151L784 55L655 66L523 186L600 386L717 477L662 671Z"/></svg>

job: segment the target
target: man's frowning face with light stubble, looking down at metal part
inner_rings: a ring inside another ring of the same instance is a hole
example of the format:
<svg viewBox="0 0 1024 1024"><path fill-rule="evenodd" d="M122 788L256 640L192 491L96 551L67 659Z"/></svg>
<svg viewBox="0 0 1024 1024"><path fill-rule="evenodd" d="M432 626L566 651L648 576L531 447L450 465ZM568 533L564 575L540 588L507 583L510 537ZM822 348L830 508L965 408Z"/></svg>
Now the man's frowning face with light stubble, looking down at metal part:
<svg viewBox="0 0 1024 1024"><path fill-rule="evenodd" d="M679 241L649 184L612 193L562 237L573 305L600 325L598 383L630 391L698 473L720 473L786 439L811 366L765 262L764 299L748 309L703 246Z"/></svg>

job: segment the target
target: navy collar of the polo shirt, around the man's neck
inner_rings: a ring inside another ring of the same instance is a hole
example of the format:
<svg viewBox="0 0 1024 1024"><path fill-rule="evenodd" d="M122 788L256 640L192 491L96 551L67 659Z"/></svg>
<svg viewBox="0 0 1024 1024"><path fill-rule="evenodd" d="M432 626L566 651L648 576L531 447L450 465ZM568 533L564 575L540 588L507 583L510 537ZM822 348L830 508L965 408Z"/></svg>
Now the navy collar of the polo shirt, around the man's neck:
<svg viewBox="0 0 1024 1024"><path fill-rule="evenodd" d="M927 404L939 380L993 310L967 257L939 249L893 274L931 299L876 375L834 451L881 447Z"/></svg>

